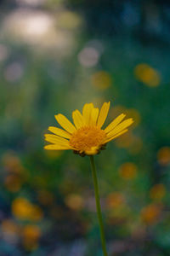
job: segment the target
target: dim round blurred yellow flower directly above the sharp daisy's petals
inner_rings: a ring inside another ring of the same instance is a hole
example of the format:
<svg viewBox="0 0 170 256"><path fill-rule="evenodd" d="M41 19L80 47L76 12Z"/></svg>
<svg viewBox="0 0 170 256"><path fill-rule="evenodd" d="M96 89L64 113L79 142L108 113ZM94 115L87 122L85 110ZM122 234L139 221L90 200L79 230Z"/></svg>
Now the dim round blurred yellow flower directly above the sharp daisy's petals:
<svg viewBox="0 0 170 256"><path fill-rule="evenodd" d="M99 71L92 75L92 84L101 90L105 90L111 86L111 75L105 71Z"/></svg>

